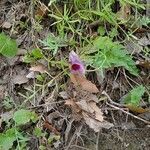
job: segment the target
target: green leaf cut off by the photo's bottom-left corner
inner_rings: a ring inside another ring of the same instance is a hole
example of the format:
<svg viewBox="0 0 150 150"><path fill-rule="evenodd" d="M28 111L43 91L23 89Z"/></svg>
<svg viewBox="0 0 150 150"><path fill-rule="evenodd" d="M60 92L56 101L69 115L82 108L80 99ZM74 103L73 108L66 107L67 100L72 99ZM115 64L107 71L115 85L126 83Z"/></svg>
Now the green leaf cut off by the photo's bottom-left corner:
<svg viewBox="0 0 150 150"><path fill-rule="evenodd" d="M5 134L0 134L0 150L9 150L16 141L15 128L8 129Z"/></svg>

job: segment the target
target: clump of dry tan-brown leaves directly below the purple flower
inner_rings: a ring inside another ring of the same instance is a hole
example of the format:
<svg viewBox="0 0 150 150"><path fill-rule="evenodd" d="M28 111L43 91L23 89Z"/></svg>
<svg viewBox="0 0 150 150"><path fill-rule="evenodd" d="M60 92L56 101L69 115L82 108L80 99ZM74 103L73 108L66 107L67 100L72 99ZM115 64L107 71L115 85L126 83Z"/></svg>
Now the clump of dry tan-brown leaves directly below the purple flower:
<svg viewBox="0 0 150 150"><path fill-rule="evenodd" d="M99 132L100 129L102 128L109 129L113 127L112 123L109 123L104 120L103 113L101 109L97 106L97 102L96 102L97 98L95 100L96 96L92 94L98 92L96 86L81 75L72 74L71 76L76 78L75 82L72 81L71 78L71 81L74 83L74 86L76 87L77 90L76 95L81 95L81 96L78 98L74 97L72 99L66 100L65 105L71 106L73 113L77 115L75 118L78 119L80 118L80 120L83 118L86 124L90 128L92 128L95 132ZM82 78L84 82L82 82ZM84 87L84 85L86 88ZM85 97L85 93L86 95L88 95L88 97Z"/></svg>

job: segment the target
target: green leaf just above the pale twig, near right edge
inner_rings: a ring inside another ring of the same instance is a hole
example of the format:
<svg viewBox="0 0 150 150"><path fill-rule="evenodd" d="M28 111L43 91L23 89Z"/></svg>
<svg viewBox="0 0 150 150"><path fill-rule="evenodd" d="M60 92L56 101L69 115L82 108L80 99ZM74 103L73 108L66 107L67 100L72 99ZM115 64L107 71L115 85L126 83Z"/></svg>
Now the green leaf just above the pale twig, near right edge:
<svg viewBox="0 0 150 150"><path fill-rule="evenodd" d="M145 87L143 85L137 86L132 89L127 97L125 98L125 104L139 106L140 100L145 92Z"/></svg>

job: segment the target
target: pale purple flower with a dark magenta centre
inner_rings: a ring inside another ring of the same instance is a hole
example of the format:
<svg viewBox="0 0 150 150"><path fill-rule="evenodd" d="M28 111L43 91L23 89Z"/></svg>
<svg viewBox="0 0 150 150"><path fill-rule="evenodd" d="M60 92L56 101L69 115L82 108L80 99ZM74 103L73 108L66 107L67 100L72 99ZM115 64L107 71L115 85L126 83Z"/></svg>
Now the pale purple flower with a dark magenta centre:
<svg viewBox="0 0 150 150"><path fill-rule="evenodd" d="M71 73L73 74L85 74L85 67L80 60L79 56L74 52L71 51L69 53L69 62L71 64Z"/></svg>

